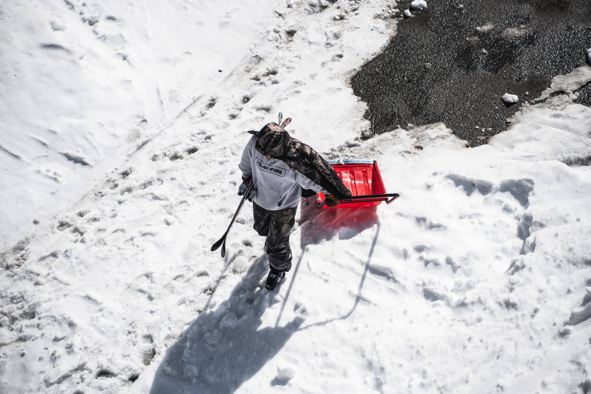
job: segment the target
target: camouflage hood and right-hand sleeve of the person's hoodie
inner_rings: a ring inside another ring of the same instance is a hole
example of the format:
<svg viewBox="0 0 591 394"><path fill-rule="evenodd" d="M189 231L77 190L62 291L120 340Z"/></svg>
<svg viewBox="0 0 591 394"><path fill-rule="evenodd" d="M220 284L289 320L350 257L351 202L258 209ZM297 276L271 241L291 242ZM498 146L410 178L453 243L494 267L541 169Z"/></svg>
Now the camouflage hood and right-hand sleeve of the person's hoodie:
<svg viewBox="0 0 591 394"><path fill-rule="evenodd" d="M280 159L291 170L300 171L339 199L351 196L351 192L340 180L332 165L328 164L310 145L292 138L277 123L268 123L260 131L249 131L249 133L256 135L256 150L261 154ZM313 194L303 193L302 195L310 197Z"/></svg>

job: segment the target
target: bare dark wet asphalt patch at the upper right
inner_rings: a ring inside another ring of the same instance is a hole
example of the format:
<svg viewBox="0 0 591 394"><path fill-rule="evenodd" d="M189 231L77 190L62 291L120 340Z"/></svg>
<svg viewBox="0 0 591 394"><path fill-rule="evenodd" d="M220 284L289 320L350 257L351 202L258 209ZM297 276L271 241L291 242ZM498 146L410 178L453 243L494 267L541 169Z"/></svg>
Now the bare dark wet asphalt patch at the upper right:
<svg viewBox="0 0 591 394"><path fill-rule="evenodd" d="M410 8L401 0L396 8ZM552 77L586 64L591 0L427 0L398 22L388 47L353 77L368 136L444 122L477 146L504 131ZM505 105L501 97L519 97ZM579 102L590 104L589 86Z"/></svg>

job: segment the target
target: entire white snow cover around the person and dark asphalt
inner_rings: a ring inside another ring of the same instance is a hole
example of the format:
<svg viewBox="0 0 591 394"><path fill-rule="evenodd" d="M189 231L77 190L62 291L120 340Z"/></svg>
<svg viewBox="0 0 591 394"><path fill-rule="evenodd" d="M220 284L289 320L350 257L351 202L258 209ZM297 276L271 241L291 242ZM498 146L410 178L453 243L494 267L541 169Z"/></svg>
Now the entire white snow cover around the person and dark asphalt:
<svg viewBox="0 0 591 394"><path fill-rule="evenodd" d="M0 76L3 214L21 226L2 224L0 392L591 385L591 109L573 103L591 67L478 148L443 123L362 140L349 79L395 34L383 2L87 4L2 6L31 55L1 44L22 73ZM249 203L226 257L209 249L246 131L280 111L325 158L378 161L401 197L302 200L269 292Z"/></svg>

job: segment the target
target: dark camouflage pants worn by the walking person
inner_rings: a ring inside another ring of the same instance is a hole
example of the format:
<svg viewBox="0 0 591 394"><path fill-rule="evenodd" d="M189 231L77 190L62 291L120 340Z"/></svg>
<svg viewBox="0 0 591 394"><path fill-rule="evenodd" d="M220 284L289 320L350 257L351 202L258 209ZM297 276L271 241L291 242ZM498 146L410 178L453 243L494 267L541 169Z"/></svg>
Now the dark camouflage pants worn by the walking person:
<svg viewBox="0 0 591 394"><path fill-rule="evenodd" d="M296 208L269 211L252 203L255 224L252 226L256 232L267 237L265 251L269 256L269 266L279 271L290 271L291 227L296 222Z"/></svg>

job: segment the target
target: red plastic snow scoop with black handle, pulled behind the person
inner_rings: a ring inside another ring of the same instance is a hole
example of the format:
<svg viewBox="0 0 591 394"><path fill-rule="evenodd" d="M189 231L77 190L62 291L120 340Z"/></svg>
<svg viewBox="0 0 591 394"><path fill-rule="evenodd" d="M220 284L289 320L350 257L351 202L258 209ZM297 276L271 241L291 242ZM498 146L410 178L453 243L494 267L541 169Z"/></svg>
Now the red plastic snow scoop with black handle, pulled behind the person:
<svg viewBox="0 0 591 394"><path fill-rule="evenodd" d="M335 208L374 207L382 201L391 203L400 197L398 193L386 193L378 162L375 160L327 160L335 169L352 196L344 198ZM324 193L316 194L320 208L329 208Z"/></svg>

